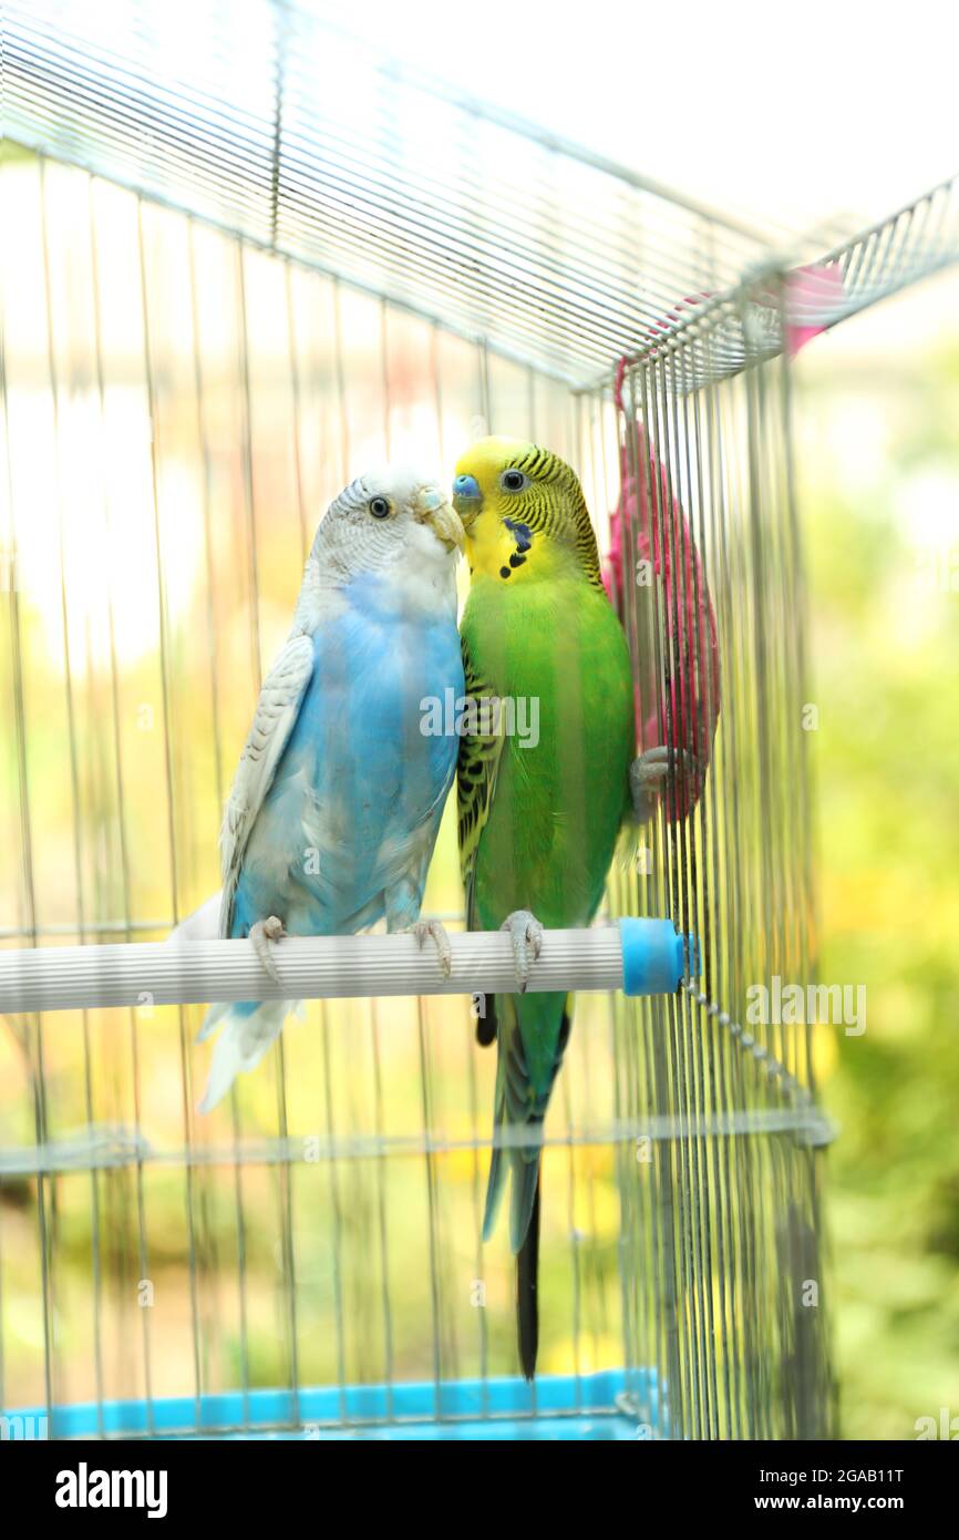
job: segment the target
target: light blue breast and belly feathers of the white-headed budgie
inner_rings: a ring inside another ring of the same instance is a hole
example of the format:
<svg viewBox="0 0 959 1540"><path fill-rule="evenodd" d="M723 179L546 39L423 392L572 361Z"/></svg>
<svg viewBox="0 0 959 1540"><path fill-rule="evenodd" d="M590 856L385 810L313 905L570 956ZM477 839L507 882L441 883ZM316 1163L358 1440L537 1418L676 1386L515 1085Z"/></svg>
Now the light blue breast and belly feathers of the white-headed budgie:
<svg viewBox="0 0 959 1540"><path fill-rule="evenodd" d="M354 585L357 588L357 585ZM243 855L232 936L411 924L459 739L422 733L425 696L463 691L456 624L371 610L362 590L314 636L297 721Z"/></svg>

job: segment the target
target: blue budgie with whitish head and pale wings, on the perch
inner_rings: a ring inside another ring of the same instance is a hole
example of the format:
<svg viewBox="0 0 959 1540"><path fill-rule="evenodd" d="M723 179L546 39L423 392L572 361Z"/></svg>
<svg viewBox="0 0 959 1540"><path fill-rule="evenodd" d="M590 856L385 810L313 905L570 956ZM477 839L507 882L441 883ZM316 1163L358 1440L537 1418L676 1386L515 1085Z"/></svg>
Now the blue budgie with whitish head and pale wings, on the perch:
<svg viewBox="0 0 959 1540"><path fill-rule="evenodd" d="M396 467L331 504L306 562L289 639L269 670L229 793L219 933L249 936L272 978L283 935L420 922L426 867L459 739L425 730L425 701L463 693L456 561L463 530L439 487ZM208 910L208 906L205 906ZM203 910L199 912L200 918ZM182 936L202 930L188 921ZM277 1038L294 1001L211 1006L220 1027L208 1112Z"/></svg>

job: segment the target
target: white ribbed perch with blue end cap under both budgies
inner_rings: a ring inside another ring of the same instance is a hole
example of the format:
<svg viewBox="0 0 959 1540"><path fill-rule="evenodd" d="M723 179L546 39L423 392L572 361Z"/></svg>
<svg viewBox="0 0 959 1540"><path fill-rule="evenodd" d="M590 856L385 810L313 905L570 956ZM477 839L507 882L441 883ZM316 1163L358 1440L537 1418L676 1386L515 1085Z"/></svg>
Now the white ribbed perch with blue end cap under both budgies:
<svg viewBox="0 0 959 1540"><path fill-rule="evenodd" d="M413 935L289 936L272 949L279 984L266 975L248 941L0 950L0 1012L516 992L508 935L451 932L449 946L453 972L443 978L433 942L428 939L420 949ZM683 938L668 919L546 930L528 987L671 993L683 976L685 952Z"/></svg>

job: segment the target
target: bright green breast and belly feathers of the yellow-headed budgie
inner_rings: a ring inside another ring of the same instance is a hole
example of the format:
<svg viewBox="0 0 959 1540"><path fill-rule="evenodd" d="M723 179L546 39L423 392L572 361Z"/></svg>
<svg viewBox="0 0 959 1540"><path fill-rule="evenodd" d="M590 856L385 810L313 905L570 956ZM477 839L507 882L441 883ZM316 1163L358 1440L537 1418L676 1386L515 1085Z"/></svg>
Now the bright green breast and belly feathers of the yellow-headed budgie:
<svg viewBox="0 0 959 1540"><path fill-rule="evenodd" d="M460 747L468 924L496 929L516 909L545 926L588 924L634 752L616 613L582 579L508 590L474 578L462 638L466 691L500 701Z"/></svg>

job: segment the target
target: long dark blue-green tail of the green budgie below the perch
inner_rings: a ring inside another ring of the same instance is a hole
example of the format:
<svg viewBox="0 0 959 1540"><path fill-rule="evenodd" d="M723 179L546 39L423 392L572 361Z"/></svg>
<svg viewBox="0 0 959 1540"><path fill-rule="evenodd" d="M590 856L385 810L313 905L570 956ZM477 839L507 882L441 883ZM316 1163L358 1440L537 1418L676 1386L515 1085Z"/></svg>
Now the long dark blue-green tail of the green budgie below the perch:
<svg viewBox="0 0 959 1540"><path fill-rule="evenodd" d="M553 1081L570 1038L560 995L497 998L499 1061L494 1132L528 1130L516 1144L494 1144L486 1183L483 1240L488 1241L511 1173L510 1247L516 1255L516 1324L523 1375L533 1380L539 1348L539 1232L542 1126Z"/></svg>

